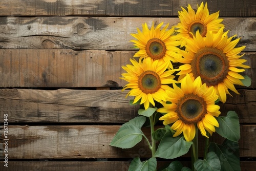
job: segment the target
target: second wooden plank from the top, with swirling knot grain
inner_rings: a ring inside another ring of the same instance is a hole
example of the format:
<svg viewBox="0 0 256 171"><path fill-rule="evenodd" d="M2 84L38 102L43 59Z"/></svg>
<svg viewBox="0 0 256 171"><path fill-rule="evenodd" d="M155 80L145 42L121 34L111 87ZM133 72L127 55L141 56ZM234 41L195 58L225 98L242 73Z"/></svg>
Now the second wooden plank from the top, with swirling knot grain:
<svg viewBox="0 0 256 171"><path fill-rule="evenodd" d="M1 49L132 50L130 34L152 22L173 26L179 18L154 17L0 17ZM255 17L224 18L229 36L241 37L238 46L256 51Z"/></svg>

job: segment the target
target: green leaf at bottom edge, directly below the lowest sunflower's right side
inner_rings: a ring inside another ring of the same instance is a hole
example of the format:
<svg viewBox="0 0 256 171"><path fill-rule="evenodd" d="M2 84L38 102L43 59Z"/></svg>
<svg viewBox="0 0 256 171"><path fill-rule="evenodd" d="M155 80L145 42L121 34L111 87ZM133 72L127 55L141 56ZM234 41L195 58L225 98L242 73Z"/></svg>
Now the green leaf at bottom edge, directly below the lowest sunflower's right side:
<svg viewBox="0 0 256 171"><path fill-rule="evenodd" d="M194 167L196 170L212 170L212 171L220 171L221 170L221 162L218 156L214 152L209 152L204 160L197 160L194 163Z"/></svg>

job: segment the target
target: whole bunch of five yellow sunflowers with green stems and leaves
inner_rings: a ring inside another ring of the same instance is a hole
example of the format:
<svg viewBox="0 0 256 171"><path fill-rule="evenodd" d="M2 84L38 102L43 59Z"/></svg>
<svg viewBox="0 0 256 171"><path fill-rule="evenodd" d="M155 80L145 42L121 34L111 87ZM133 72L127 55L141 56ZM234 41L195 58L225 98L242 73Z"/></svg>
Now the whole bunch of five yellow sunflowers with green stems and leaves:
<svg viewBox="0 0 256 171"><path fill-rule="evenodd" d="M220 116L218 104L226 102L229 90L239 94L234 85L250 86L251 79L241 75L250 68L240 55L245 46L237 47L240 38L228 36L219 12L209 14L207 3L197 11L190 5L181 8L180 23L171 29L163 23L149 29L145 23L131 34L139 51L131 65L122 67L126 73L121 79L129 82L123 90L130 90L126 97L134 96L130 104L140 105L140 116L124 123L110 145L131 148L145 139L152 157L134 158L133 171L156 170L157 158L172 159L163 170L241 170L238 115L229 111ZM150 138L141 130L147 121ZM222 144L209 142L215 132L225 138ZM201 156L199 136L205 137ZM174 160L189 149L191 168Z"/></svg>

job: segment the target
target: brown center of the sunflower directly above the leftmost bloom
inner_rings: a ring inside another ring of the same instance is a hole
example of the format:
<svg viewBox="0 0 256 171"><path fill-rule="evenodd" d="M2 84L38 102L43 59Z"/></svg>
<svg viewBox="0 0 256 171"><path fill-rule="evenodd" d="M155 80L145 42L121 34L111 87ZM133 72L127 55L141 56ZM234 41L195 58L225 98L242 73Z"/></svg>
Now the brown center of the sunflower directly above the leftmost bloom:
<svg viewBox="0 0 256 171"><path fill-rule="evenodd" d="M146 53L153 59L160 59L165 55L166 46L159 38L152 38L147 41Z"/></svg>

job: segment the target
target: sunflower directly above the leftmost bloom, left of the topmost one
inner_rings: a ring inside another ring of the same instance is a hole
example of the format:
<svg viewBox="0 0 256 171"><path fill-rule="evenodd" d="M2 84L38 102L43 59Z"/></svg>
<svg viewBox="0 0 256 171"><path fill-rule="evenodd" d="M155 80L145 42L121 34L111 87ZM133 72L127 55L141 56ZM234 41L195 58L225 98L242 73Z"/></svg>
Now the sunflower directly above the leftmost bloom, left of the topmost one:
<svg viewBox="0 0 256 171"><path fill-rule="evenodd" d="M176 46L180 45L180 41L176 41L173 36L174 28L167 30L169 24L167 24L162 30L160 30L163 22L154 28L154 22L151 29L148 29L146 23L142 24L142 32L137 28L138 33L131 34L137 40L131 40L134 42L135 48L139 51L134 57L151 57L154 60L173 61L174 55L179 49ZM173 69L173 65L170 62L169 68Z"/></svg>

